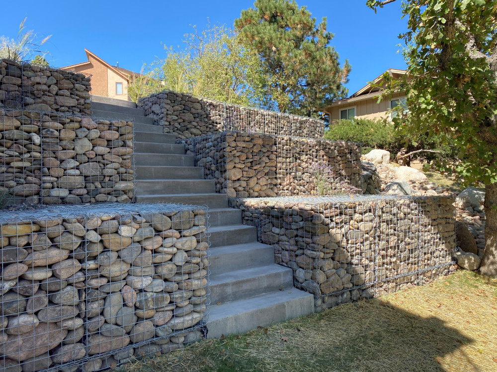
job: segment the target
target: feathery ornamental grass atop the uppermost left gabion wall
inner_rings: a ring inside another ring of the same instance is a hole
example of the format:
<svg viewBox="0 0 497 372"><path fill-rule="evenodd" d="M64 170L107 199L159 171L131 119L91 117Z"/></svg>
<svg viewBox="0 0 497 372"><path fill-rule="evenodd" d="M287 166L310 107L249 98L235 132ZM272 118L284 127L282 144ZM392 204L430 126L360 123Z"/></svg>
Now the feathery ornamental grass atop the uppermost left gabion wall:
<svg viewBox="0 0 497 372"><path fill-rule="evenodd" d="M52 35L39 40L33 30L25 30L24 22L26 22L26 17L24 17L19 25L16 39L9 39L5 36L0 37L0 58L21 62L32 59L34 53L41 53L41 58L48 53L40 51L39 48L45 44Z"/></svg>

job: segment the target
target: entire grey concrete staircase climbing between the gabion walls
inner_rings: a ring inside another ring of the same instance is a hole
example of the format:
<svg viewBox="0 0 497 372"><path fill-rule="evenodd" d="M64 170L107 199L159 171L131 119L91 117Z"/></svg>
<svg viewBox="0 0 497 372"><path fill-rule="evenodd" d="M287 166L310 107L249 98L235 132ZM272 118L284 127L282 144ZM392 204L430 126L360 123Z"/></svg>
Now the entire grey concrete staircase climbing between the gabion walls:
<svg viewBox="0 0 497 372"><path fill-rule="evenodd" d="M95 96L92 96L94 98ZM193 156L175 144L130 102L98 98L95 116L135 120L136 201L185 203L209 207L209 338L243 333L257 326L314 311L314 297L293 288L292 270L274 263L270 246L257 242L255 227L242 224L242 212L228 207L228 196L215 193Z"/></svg>

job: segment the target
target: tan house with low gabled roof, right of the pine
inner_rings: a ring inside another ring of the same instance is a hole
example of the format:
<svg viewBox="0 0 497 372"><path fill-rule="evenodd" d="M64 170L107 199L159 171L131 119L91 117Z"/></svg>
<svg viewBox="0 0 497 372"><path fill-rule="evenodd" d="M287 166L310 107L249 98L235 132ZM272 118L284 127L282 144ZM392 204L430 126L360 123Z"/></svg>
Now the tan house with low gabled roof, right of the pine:
<svg viewBox="0 0 497 372"><path fill-rule="evenodd" d="M398 78L406 74L406 70L389 68L388 72L391 76ZM383 74L373 80L374 84L381 84ZM387 119L392 120L392 115L388 111L398 105L405 105L406 94L404 92L394 93L388 99L383 98L378 102L378 96L382 93L379 87L372 88L371 84L367 84L350 97L335 101L325 108L325 115L328 115L330 123L340 119Z"/></svg>

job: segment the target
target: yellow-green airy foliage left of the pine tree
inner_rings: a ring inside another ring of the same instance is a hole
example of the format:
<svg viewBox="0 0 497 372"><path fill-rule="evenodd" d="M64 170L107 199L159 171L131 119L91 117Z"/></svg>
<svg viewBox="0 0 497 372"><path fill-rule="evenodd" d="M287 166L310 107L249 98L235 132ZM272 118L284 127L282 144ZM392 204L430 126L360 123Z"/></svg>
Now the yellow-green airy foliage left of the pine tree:
<svg viewBox="0 0 497 372"><path fill-rule="evenodd" d="M185 47L165 47L166 58L153 64L149 76L162 89L190 93L224 102L261 106L266 78L255 53L243 37L224 25L193 27Z"/></svg>

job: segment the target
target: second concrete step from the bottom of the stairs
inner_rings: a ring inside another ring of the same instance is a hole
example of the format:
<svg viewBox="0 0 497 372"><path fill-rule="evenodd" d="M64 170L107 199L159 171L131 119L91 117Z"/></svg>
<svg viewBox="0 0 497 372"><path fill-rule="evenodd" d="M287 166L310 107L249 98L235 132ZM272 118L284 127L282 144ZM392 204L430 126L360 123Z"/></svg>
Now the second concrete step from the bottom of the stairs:
<svg viewBox="0 0 497 372"><path fill-rule="evenodd" d="M255 297L293 287L293 272L276 263L210 275L211 304Z"/></svg>

